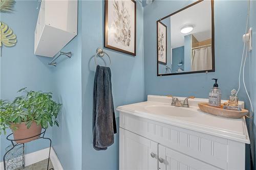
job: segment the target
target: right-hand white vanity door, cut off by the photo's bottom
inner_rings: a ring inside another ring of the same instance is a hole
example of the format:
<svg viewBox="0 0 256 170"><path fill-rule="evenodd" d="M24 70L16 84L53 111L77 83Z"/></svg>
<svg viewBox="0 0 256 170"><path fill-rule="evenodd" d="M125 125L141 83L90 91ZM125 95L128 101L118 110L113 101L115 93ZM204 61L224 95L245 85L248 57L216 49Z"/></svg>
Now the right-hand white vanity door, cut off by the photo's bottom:
<svg viewBox="0 0 256 170"><path fill-rule="evenodd" d="M163 147L159 144L159 169L160 170L213 170L216 166L207 164L193 157L187 156L175 150Z"/></svg>

